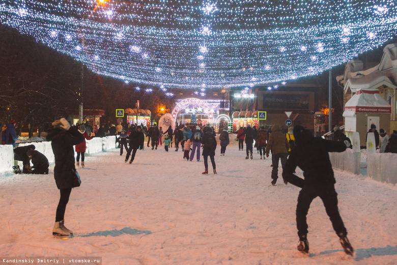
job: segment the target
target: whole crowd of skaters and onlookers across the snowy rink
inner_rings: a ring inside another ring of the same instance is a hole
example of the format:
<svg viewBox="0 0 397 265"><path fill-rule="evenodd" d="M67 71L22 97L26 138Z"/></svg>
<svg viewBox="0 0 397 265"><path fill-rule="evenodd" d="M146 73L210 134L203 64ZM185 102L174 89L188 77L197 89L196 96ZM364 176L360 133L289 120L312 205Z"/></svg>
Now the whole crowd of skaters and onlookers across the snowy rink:
<svg viewBox="0 0 397 265"><path fill-rule="evenodd" d="M162 127L156 125L147 128L144 124L132 124L127 127L119 123L118 126L110 126L110 128L105 125L97 128L97 126L92 127L89 122L70 125L65 119L57 120L52 125L54 128L49 131L47 140L51 141L54 152L54 178L60 190L60 201L56 209L53 228L53 234L57 236L73 234L64 225L65 209L71 190L76 187L76 168L80 165L84 167L86 140L91 140L93 137L118 135L116 141L120 143L120 155L123 155L125 149L125 162L129 161L129 164L133 163L138 149L144 150L145 138L147 138L146 146L151 146L152 150L157 150L164 144L164 150L168 152L174 144L176 152L182 149L183 159L187 162L193 161L194 158L201 161L201 155L203 156L205 171L202 174L208 174L209 157L213 173L217 174L214 159L217 140L214 127L201 124L177 124L175 129L169 126L163 130ZM394 130L389 137L384 129L380 129L378 133L376 126L372 124L368 133L374 133L376 146L381 153L397 153L397 131ZM334 128L331 136L333 141L315 138L309 130L300 125L288 128L274 124L272 127L262 126L257 130L256 126L251 127L247 124L246 127L240 127L234 132L221 128L219 130L221 156L225 155L226 147L230 144L230 134L237 134L236 141L239 142L239 150L244 150L245 142L246 160L253 159L254 147L257 153L260 153L261 160L265 160L270 153L272 154L271 184L273 186L276 186L278 165L281 162L283 183L291 183L301 188L296 209L299 251L308 253L306 215L311 201L320 197L345 252L350 255L353 253L353 248L347 239L347 230L339 215L337 194L334 188L335 178L328 155L328 152L343 152L346 148L351 148L350 139L339 127ZM15 120L11 120L3 126L2 144L15 146L16 139ZM77 153L76 158L73 146ZM22 173L48 174L47 158L35 149L34 144L14 148L15 160L22 161ZM295 175L297 167L303 171L303 178Z"/></svg>

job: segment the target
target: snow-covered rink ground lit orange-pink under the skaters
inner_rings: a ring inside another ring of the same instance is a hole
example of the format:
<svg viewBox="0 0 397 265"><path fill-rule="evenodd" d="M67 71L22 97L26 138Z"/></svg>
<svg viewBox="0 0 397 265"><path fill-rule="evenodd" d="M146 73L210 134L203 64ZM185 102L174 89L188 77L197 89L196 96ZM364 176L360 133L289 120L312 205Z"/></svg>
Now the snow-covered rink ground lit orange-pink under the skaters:
<svg viewBox="0 0 397 265"><path fill-rule="evenodd" d="M0 256L102 257L103 264L396 264L397 187L335 171L339 210L356 256L343 252L324 206L309 209L310 257L296 250L299 188L270 184L271 160L245 160L236 142L216 169L181 149L145 148L132 165L119 150L86 157L65 225L52 237L59 190L49 175L0 179ZM280 173L280 172L279 172ZM298 169L299 175L302 172ZM279 174L280 176L280 174Z"/></svg>

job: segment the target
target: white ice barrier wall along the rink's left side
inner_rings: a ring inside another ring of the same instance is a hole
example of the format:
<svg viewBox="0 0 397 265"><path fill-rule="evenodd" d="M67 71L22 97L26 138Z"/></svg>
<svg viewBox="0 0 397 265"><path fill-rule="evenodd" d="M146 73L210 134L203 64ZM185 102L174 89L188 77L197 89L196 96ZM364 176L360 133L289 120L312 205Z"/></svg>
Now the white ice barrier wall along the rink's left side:
<svg viewBox="0 0 397 265"><path fill-rule="evenodd" d="M36 150L43 153L50 165L55 162L54 153L52 152L51 142L37 142L37 143L21 143L19 146L35 145ZM86 140L87 150L86 155L93 155L100 152L116 148L116 136L95 137L91 140ZM75 153L76 155L76 153ZM22 169L22 162L14 160L14 148L12 145L0 145L0 176L14 174L13 166L18 165Z"/></svg>

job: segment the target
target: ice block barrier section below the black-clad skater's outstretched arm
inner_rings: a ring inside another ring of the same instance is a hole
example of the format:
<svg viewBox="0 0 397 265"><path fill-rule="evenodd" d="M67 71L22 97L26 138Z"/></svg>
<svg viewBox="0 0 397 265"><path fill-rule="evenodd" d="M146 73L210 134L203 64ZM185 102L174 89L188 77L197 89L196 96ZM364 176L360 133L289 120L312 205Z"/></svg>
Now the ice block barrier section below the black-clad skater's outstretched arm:
<svg viewBox="0 0 397 265"><path fill-rule="evenodd" d="M360 174L360 152L353 152L352 149L347 149L344 152L330 152L329 159L331 160L332 168L336 170L347 171L356 175Z"/></svg>

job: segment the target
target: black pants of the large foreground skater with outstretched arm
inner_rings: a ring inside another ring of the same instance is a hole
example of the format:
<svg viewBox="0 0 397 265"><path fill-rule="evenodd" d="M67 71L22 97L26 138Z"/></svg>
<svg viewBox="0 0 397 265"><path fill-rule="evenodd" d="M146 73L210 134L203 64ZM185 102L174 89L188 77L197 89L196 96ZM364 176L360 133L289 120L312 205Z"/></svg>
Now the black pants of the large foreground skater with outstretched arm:
<svg viewBox="0 0 397 265"><path fill-rule="evenodd" d="M302 240L307 237L306 215L311 201L317 196L323 201L325 211L331 220L336 234L339 235L342 233L346 235L345 225L343 224L341 215L339 215L337 193L332 185L331 187L316 187L310 190L303 188L299 192L298 204L296 206L296 226L298 228L299 239Z"/></svg>

